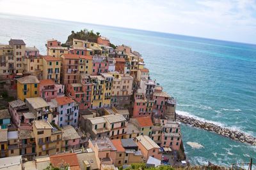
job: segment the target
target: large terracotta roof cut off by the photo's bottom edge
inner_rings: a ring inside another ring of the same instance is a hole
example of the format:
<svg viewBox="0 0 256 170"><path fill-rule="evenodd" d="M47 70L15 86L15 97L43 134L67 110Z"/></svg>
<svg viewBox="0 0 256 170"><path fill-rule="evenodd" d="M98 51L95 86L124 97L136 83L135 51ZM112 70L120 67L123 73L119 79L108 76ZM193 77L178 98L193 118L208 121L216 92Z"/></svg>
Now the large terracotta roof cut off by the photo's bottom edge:
<svg viewBox="0 0 256 170"><path fill-rule="evenodd" d="M70 169L80 169L76 153L62 153L50 156L52 166L61 167L67 164Z"/></svg>

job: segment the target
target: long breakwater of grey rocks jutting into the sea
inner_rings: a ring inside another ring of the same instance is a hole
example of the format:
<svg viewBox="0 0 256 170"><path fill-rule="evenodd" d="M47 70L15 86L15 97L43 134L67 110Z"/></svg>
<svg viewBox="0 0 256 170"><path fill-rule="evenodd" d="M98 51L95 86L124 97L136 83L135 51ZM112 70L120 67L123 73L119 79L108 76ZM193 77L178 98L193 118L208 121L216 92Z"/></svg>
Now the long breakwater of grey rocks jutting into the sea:
<svg viewBox="0 0 256 170"><path fill-rule="evenodd" d="M182 122L184 124L189 124L189 125L192 125L193 127L198 127L206 131L216 132L221 136L225 136L227 138L234 139L236 141L249 143L250 145L256 145L256 138L254 138L253 136L244 134L243 132L233 131L226 127L220 127L219 125L211 124L209 122L203 122L200 120L196 120L196 118L186 117L178 114L176 114L176 119L177 121Z"/></svg>

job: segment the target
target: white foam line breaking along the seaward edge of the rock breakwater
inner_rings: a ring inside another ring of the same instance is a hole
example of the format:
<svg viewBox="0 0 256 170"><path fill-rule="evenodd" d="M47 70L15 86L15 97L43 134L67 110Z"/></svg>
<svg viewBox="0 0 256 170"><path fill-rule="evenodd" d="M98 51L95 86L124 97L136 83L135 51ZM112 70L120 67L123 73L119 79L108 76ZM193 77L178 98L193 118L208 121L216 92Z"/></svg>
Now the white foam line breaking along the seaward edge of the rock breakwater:
<svg viewBox="0 0 256 170"><path fill-rule="evenodd" d="M218 125L220 127L227 128L227 129L230 129L232 131L243 132L244 134L246 134L248 136L254 136L252 132L244 132L242 130L243 128L238 127L237 125L228 126L227 124L223 124L223 123L220 123L220 122L215 122L215 121L212 121L212 120L206 120L205 118L197 117L197 116L192 115L191 113L188 113L186 111L177 110L176 113L178 115L182 115L182 116L185 116L185 117L195 118L196 120L200 120L202 122L207 122L207 123L210 123L210 124Z"/></svg>

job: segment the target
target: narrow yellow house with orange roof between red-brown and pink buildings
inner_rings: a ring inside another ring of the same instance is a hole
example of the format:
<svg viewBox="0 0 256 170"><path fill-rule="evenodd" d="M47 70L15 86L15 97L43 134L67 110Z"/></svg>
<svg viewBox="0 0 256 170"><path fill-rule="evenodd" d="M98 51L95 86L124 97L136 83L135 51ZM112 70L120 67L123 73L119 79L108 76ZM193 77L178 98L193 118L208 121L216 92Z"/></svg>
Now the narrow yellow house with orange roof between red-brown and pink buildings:
<svg viewBox="0 0 256 170"><path fill-rule="evenodd" d="M92 56L79 55L79 73L92 74Z"/></svg>

